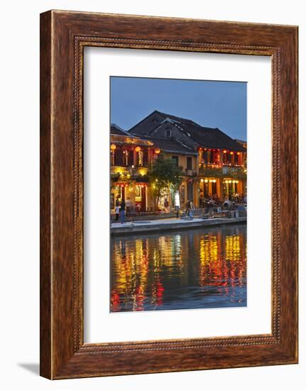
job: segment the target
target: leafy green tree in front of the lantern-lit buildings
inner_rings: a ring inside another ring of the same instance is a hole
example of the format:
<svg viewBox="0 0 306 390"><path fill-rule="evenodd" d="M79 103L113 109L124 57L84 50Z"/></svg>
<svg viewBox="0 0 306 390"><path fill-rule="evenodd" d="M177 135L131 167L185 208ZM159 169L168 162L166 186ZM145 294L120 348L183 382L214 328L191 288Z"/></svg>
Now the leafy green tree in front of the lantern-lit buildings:
<svg viewBox="0 0 306 390"><path fill-rule="evenodd" d="M155 198L155 209L163 191L177 190L182 183L182 167L177 167L175 160L160 155L148 170L148 179L151 183Z"/></svg>

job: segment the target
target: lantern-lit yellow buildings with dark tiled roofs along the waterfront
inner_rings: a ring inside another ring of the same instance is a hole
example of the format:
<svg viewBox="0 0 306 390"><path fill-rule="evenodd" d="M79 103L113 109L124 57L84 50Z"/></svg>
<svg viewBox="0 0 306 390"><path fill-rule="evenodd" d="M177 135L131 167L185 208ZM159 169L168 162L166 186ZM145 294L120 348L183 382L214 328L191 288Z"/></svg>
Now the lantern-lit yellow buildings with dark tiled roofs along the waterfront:
<svg viewBox="0 0 306 390"><path fill-rule="evenodd" d="M111 125L110 149L111 208L125 199L132 212L153 211L147 172L161 155L182 167L182 184L178 191L165 191L160 210L184 208L187 200L201 208L209 198L246 196L246 143L218 128L153 111L129 131Z"/></svg>

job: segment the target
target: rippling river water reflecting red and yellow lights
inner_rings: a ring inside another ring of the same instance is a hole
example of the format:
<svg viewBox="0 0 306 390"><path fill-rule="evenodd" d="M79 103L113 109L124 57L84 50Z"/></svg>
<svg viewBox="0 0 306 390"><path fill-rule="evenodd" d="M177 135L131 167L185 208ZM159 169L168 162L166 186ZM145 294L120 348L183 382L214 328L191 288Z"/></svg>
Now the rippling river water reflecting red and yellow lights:
<svg viewBox="0 0 306 390"><path fill-rule="evenodd" d="M246 306L246 225L111 239L111 308Z"/></svg>

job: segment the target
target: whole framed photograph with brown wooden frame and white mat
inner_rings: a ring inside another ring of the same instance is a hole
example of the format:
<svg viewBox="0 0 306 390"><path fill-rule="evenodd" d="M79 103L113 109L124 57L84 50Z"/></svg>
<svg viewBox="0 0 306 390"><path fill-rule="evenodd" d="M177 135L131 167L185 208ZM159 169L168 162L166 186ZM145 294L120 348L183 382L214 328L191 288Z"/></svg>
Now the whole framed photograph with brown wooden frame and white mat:
<svg viewBox="0 0 306 390"><path fill-rule="evenodd" d="M297 363L297 27L40 15L40 374Z"/></svg>

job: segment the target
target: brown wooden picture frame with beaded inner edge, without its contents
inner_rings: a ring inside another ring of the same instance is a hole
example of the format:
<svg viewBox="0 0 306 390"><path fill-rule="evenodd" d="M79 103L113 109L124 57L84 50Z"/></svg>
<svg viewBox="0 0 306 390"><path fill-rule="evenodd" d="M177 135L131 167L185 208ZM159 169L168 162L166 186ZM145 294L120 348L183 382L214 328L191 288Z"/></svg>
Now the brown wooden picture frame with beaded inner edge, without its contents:
<svg viewBox="0 0 306 390"><path fill-rule="evenodd" d="M85 46L271 57L271 334L84 343ZM297 27L69 11L42 13L40 374L48 379L64 379L294 363L297 363Z"/></svg>

